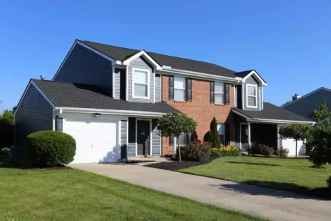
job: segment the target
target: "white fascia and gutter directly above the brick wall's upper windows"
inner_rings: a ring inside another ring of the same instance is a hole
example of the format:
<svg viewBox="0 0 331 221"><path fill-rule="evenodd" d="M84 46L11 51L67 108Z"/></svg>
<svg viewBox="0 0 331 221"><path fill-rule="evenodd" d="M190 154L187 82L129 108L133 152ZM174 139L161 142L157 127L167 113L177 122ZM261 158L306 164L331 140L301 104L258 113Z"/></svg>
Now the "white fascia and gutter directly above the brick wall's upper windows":
<svg viewBox="0 0 331 221"><path fill-rule="evenodd" d="M238 83L238 79L234 77L222 77L222 76L217 76L217 75L210 75L206 73L199 73L199 72L194 72L190 70L180 70L180 69L174 69L174 68L162 68L163 73L169 73L169 74L177 74L177 75L183 75L185 77L194 77L196 79L212 79L212 80L217 80L217 81L222 81L222 82L229 82L231 84L236 84Z"/></svg>

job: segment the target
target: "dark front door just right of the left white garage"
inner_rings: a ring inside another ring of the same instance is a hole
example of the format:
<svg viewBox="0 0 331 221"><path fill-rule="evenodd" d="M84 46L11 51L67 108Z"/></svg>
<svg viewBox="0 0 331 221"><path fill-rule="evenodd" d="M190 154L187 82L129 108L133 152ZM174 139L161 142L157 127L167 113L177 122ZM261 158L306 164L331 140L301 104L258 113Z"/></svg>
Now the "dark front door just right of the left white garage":
<svg viewBox="0 0 331 221"><path fill-rule="evenodd" d="M137 154L150 155L150 122L137 121Z"/></svg>

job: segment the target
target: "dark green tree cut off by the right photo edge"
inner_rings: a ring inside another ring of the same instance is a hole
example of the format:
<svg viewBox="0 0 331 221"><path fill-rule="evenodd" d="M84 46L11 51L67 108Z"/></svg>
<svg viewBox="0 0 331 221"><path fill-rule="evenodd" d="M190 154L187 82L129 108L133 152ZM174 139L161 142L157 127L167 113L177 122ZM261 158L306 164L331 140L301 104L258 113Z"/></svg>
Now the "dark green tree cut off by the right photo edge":
<svg viewBox="0 0 331 221"><path fill-rule="evenodd" d="M316 167L321 167L326 163L331 164L331 112L329 112L326 102L323 102L309 116L314 117L317 122L309 132L309 145L314 146L313 150L309 153L309 160Z"/></svg>

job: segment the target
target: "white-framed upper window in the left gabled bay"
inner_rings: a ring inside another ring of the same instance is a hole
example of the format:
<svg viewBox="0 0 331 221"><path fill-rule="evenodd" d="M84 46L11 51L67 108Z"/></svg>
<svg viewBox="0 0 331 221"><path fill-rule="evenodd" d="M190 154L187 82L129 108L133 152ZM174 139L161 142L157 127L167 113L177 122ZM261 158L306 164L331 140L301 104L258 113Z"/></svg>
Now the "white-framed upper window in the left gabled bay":
<svg viewBox="0 0 331 221"><path fill-rule="evenodd" d="M132 68L132 97L149 98L149 70Z"/></svg>

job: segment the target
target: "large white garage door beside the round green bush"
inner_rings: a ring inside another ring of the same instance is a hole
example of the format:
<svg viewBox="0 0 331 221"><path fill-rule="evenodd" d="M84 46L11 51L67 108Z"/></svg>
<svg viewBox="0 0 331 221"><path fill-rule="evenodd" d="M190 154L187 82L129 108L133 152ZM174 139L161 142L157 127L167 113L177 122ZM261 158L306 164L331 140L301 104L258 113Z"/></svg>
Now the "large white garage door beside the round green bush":
<svg viewBox="0 0 331 221"><path fill-rule="evenodd" d="M76 140L76 155L72 163L116 162L117 121L98 119L65 119L63 132Z"/></svg>

